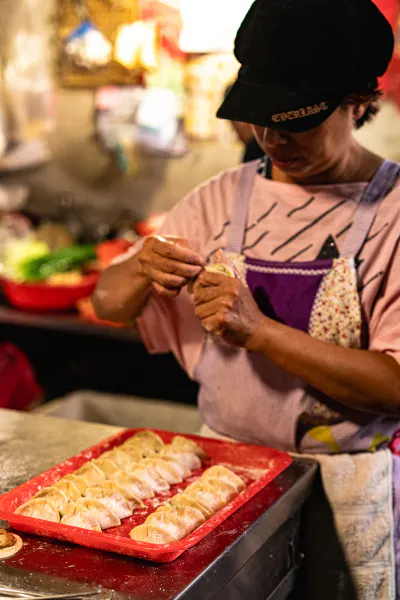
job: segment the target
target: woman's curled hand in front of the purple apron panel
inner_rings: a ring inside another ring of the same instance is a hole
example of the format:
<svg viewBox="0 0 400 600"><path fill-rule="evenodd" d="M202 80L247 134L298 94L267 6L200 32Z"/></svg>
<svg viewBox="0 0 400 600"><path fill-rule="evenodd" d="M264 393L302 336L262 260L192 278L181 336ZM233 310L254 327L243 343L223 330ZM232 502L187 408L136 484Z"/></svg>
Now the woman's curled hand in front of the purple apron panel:
<svg viewBox="0 0 400 600"><path fill-rule="evenodd" d="M194 286L196 315L203 327L232 346L252 349L266 317L239 279L202 271Z"/></svg>

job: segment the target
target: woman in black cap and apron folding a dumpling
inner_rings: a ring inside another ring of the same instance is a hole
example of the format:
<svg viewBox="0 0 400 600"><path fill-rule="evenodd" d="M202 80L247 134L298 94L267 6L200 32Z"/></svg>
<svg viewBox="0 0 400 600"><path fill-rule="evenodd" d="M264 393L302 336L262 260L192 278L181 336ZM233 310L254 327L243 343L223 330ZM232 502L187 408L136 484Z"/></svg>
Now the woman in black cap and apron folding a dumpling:
<svg viewBox="0 0 400 600"><path fill-rule="evenodd" d="M199 382L205 433L317 457L352 577L308 532L324 580L307 598L324 582L335 598L395 597L399 167L352 138L392 52L371 0L256 0L218 115L250 123L270 158L200 186L95 297Z"/></svg>

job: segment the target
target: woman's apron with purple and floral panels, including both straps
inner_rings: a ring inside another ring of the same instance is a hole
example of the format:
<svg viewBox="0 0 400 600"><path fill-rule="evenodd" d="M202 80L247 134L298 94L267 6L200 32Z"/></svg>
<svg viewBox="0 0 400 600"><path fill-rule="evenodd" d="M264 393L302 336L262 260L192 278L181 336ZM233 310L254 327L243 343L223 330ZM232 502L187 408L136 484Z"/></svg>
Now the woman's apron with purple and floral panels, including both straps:
<svg viewBox="0 0 400 600"><path fill-rule="evenodd" d="M365 190L342 255L303 263L245 257L244 270L262 312L289 327L347 348L367 348L355 262L383 198L400 167L385 161ZM256 164L242 168L226 254L243 263L241 249ZM243 268L243 264L240 266ZM220 434L291 452L339 453L387 446L398 421L351 410L275 365L208 335L194 372L203 422ZM301 394L291 395L293 390Z"/></svg>

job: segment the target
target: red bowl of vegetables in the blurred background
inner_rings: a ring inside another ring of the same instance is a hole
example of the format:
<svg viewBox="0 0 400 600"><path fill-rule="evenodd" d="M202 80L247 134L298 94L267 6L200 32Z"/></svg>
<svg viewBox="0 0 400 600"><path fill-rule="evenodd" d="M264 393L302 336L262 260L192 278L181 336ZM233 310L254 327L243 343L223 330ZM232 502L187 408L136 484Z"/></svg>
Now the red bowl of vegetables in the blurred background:
<svg viewBox="0 0 400 600"><path fill-rule="evenodd" d="M78 300L90 296L96 287L99 273L89 273L77 285L47 285L45 283L15 283L3 281L8 302L31 312L55 312L75 308Z"/></svg>

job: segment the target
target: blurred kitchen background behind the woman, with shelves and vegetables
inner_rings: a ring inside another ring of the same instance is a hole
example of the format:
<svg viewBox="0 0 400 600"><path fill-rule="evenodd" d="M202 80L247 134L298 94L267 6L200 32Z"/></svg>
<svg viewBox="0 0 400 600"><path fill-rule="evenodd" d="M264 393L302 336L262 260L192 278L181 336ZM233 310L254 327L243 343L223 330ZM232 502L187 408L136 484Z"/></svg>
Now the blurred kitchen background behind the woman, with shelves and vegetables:
<svg viewBox="0 0 400 600"><path fill-rule="evenodd" d="M400 161L397 36L357 137ZM0 407L196 431L196 385L99 322L102 268L193 187L243 160L215 112L251 0L0 0ZM181 427L182 429L182 427Z"/></svg>

